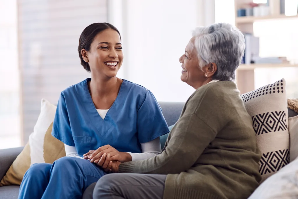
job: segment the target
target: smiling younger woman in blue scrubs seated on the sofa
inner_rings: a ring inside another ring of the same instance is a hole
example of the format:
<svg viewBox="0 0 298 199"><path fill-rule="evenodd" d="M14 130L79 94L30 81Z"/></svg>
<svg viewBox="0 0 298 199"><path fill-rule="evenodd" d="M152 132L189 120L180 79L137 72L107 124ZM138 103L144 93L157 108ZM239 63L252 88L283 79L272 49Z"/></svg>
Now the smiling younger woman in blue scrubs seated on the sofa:
<svg viewBox="0 0 298 199"><path fill-rule="evenodd" d="M19 199L82 198L90 184L110 172L111 161L157 155L159 136L169 132L154 95L116 77L123 53L113 25L86 27L78 52L91 78L61 92L52 130L65 144L66 157L33 164L24 175Z"/></svg>

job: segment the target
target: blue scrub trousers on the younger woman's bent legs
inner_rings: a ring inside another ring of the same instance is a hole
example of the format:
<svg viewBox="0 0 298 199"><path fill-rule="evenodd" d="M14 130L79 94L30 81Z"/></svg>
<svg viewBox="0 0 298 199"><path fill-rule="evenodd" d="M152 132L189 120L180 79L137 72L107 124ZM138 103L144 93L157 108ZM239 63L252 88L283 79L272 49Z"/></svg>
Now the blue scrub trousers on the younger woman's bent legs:
<svg viewBox="0 0 298 199"><path fill-rule="evenodd" d="M105 174L96 164L74 157L33 164L24 175L18 199L80 199L85 189Z"/></svg>

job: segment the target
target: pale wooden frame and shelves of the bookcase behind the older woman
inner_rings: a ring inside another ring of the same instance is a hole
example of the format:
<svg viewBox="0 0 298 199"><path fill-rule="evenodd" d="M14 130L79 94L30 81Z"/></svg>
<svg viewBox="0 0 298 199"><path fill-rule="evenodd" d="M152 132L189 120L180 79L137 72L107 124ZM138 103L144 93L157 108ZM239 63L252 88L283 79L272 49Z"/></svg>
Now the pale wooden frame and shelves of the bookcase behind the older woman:
<svg viewBox="0 0 298 199"><path fill-rule="evenodd" d="M249 3L251 0L234 0L235 1L235 26L243 33L254 33L253 23L257 21L273 21L282 19L294 19L295 16L285 15L269 15L269 16L245 16L237 17L237 9L243 4ZM274 46L272 46L274 47ZM254 70L256 68L282 68L282 67L298 67L298 64L241 64L236 70L236 84L240 93L246 93L254 90Z"/></svg>

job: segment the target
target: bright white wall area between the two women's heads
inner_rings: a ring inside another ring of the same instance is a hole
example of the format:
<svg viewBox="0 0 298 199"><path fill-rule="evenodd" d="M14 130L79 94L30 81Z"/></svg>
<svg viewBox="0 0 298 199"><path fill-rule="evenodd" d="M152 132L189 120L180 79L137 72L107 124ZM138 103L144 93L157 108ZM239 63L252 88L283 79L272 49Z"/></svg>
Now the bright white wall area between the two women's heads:
<svg viewBox="0 0 298 199"><path fill-rule="evenodd" d="M118 10L108 21L122 30L125 59L120 77L148 88L158 101L186 101L194 89L180 80L179 58L191 31L214 23L214 1L123 0L120 16L113 4Z"/></svg>

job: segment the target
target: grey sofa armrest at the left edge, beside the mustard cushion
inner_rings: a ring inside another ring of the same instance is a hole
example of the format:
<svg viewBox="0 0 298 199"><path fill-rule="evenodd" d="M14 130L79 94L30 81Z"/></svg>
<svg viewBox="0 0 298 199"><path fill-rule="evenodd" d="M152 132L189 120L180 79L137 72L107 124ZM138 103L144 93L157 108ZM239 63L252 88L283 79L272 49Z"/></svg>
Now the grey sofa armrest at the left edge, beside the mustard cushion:
<svg viewBox="0 0 298 199"><path fill-rule="evenodd" d="M24 147L0 149L0 181Z"/></svg>

